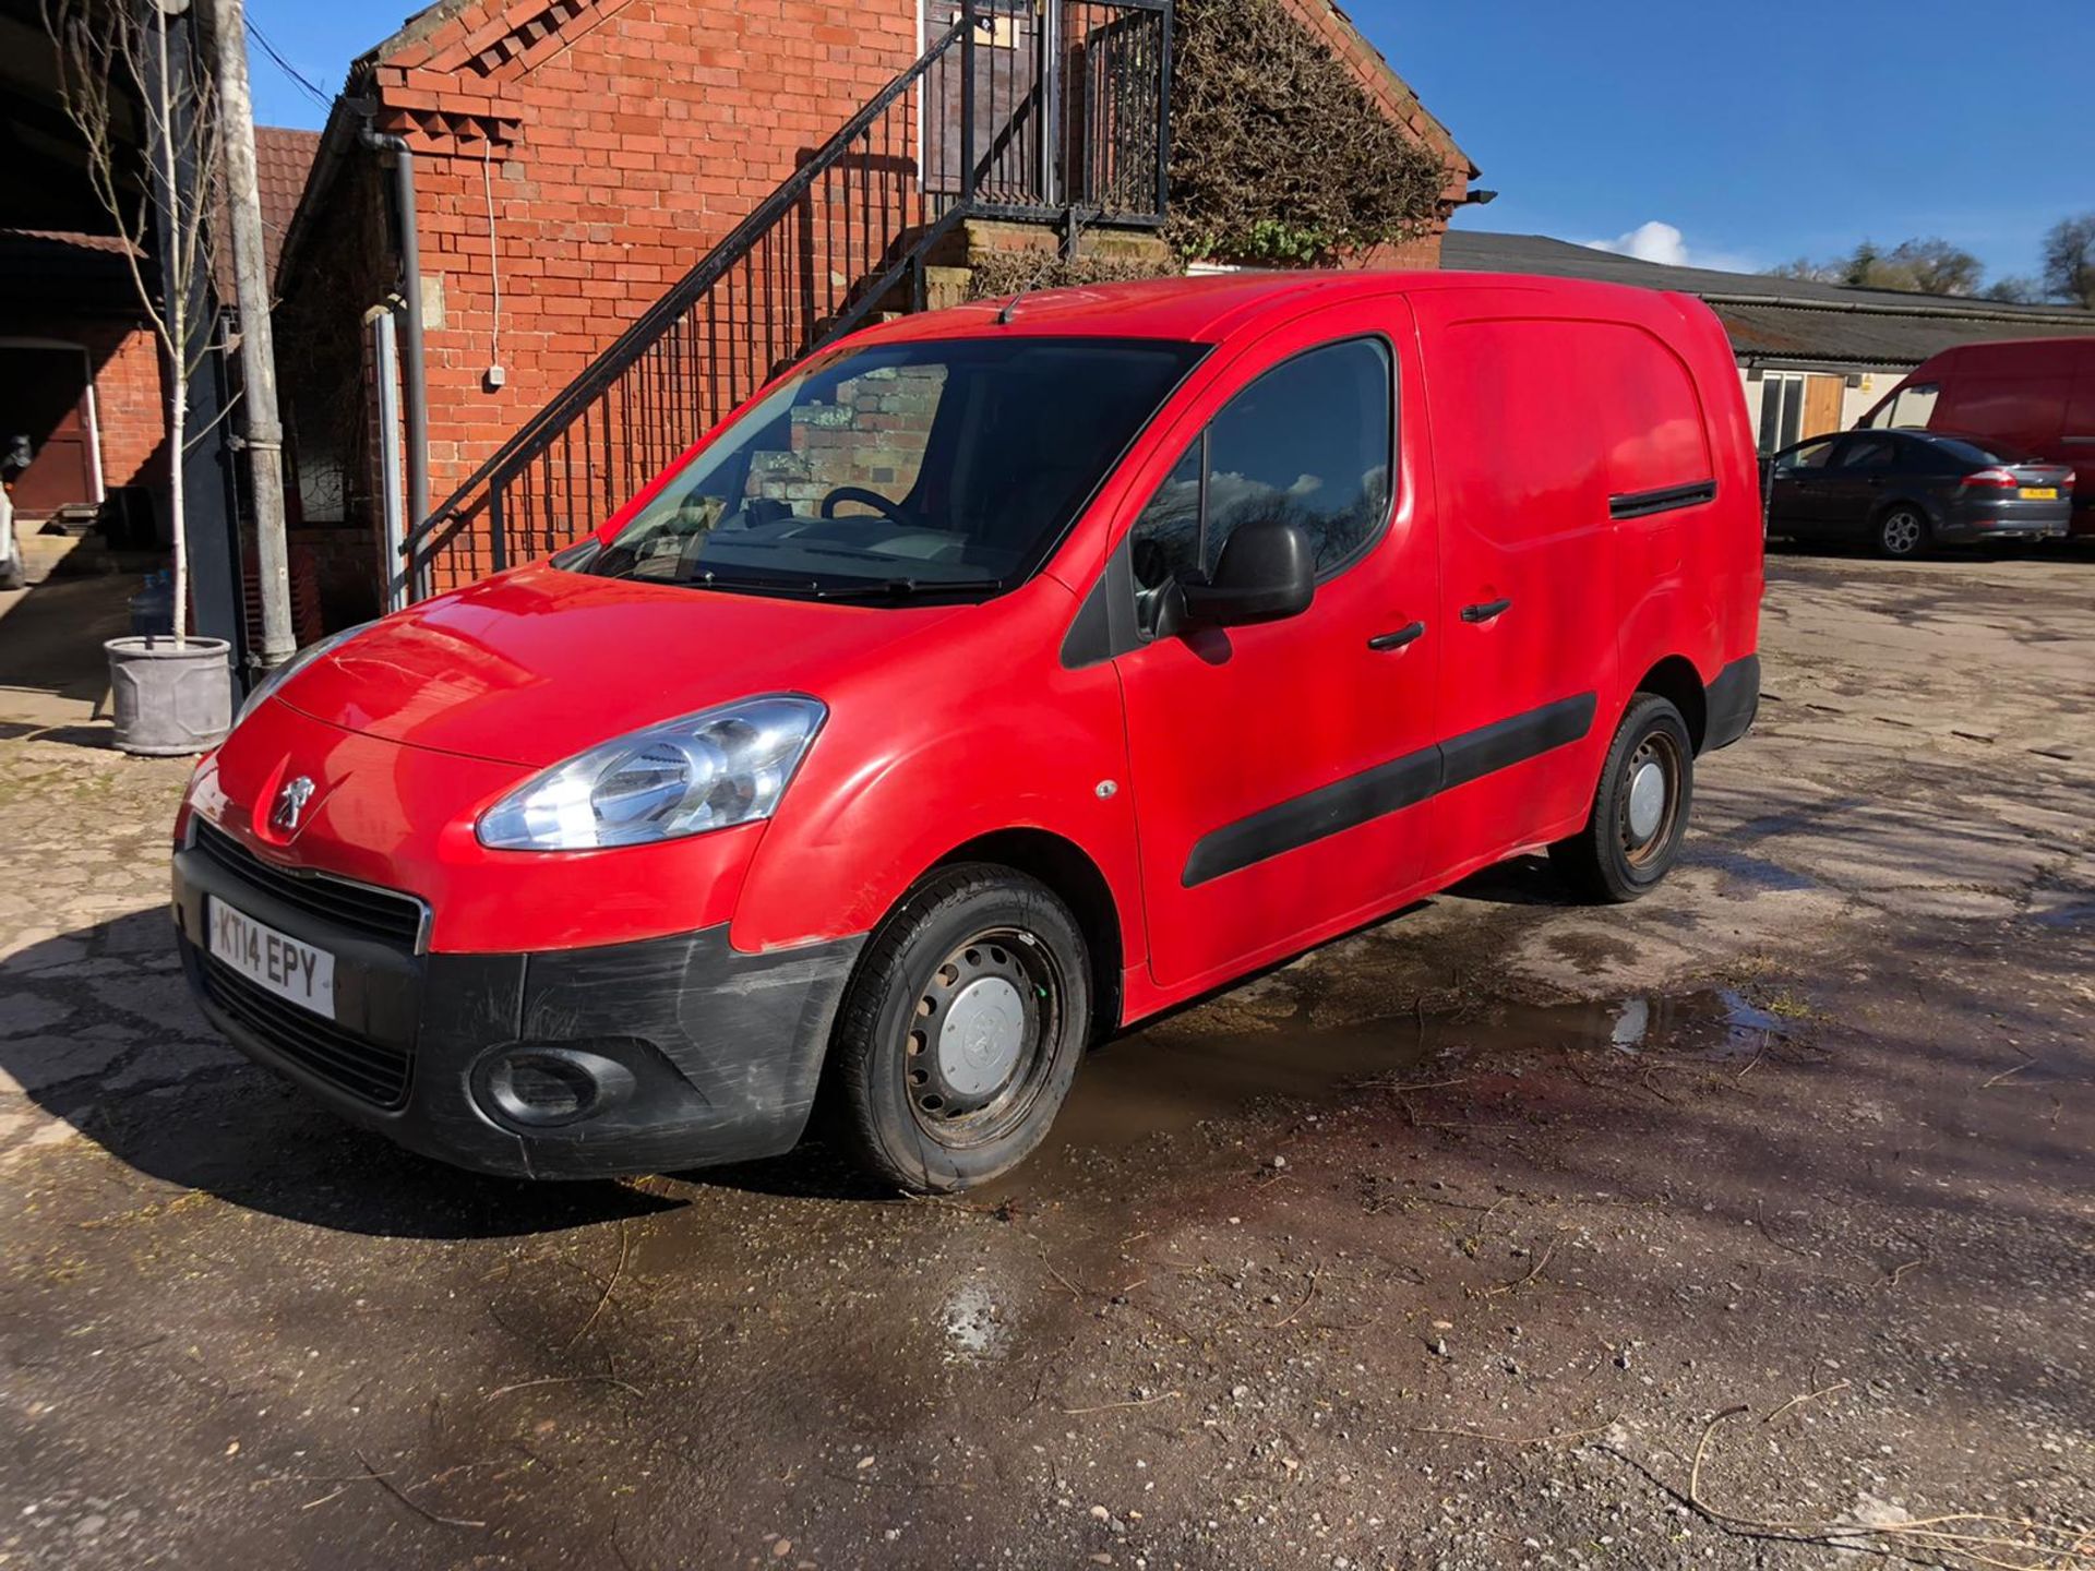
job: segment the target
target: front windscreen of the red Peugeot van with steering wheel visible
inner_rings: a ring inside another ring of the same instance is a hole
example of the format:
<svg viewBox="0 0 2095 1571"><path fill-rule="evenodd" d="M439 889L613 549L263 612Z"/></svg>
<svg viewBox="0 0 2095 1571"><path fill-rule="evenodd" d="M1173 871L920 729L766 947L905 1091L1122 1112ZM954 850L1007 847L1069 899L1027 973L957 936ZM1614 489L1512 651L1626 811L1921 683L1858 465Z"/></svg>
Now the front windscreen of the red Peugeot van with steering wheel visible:
<svg viewBox="0 0 2095 1571"><path fill-rule="evenodd" d="M1196 344L945 339L811 360L574 559L802 597L987 597L1033 574Z"/></svg>

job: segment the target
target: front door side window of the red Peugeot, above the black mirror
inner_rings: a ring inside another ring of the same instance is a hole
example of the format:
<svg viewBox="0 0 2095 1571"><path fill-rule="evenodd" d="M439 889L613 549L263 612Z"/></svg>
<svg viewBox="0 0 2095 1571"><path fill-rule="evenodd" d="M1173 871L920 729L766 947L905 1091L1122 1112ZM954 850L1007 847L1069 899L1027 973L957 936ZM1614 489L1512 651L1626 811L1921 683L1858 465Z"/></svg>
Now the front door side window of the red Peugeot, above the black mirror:
<svg viewBox="0 0 2095 1571"><path fill-rule="evenodd" d="M1232 398L1133 530L1135 576L1213 574L1240 526L1286 519L1320 578L1345 570L1389 517L1395 444L1389 346L1349 339L1286 360Z"/></svg>

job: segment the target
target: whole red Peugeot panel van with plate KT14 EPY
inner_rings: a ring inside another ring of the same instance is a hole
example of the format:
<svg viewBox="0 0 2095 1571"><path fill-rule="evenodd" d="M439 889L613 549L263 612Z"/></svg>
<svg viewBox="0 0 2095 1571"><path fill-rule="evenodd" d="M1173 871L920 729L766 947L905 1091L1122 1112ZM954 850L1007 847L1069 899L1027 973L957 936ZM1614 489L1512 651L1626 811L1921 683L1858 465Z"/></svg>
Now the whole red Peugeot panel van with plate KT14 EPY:
<svg viewBox="0 0 2095 1571"><path fill-rule="evenodd" d="M197 769L203 1010L530 1177L957 1190L1083 1049L1548 846L1653 888L1760 693L1684 295L1284 274L913 316L559 555L304 651Z"/></svg>

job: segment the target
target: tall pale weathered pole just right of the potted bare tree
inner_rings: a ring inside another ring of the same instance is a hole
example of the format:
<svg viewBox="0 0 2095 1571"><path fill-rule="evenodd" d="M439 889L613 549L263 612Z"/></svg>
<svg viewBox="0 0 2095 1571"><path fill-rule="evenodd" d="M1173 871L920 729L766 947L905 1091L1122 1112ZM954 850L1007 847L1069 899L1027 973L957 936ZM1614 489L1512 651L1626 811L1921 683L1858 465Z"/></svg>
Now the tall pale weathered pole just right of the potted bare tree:
<svg viewBox="0 0 2095 1571"><path fill-rule="evenodd" d="M243 0L210 0L218 75L218 126L233 228L233 283L241 312L241 427L253 490L256 561L262 578L262 670L297 651L291 633L291 568L283 515L283 417L277 411L277 346L270 333L268 253L262 249L262 193L256 184L256 111L247 94Z"/></svg>

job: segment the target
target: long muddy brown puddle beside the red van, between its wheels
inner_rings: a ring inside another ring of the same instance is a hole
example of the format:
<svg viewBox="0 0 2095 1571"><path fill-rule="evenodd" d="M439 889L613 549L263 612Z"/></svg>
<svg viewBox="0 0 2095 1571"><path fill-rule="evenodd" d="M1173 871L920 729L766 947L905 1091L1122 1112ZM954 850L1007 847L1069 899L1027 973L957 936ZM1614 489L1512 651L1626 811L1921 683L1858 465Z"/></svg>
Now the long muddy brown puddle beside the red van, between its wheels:
<svg viewBox="0 0 2095 1571"><path fill-rule="evenodd" d="M1777 1008L1733 989L1429 1010L1351 1024L1291 1018L1259 1031L1200 1031L1196 1012L1094 1054L1056 1119L1050 1150L1125 1148L1265 1102L1330 1100L1364 1081L1446 1068L1479 1052L1605 1049L1745 1062L1789 1026Z"/></svg>

